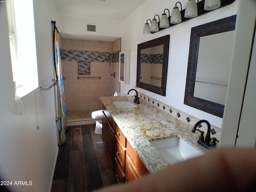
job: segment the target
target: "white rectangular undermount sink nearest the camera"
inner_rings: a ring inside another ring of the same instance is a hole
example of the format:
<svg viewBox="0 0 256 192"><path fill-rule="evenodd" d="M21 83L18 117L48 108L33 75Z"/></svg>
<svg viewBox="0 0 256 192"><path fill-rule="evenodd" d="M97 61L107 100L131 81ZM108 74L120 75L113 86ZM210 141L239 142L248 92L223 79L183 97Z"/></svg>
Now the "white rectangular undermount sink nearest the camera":
<svg viewBox="0 0 256 192"><path fill-rule="evenodd" d="M178 137L154 140L150 143L170 164L202 155L200 151Z"/></svg>

